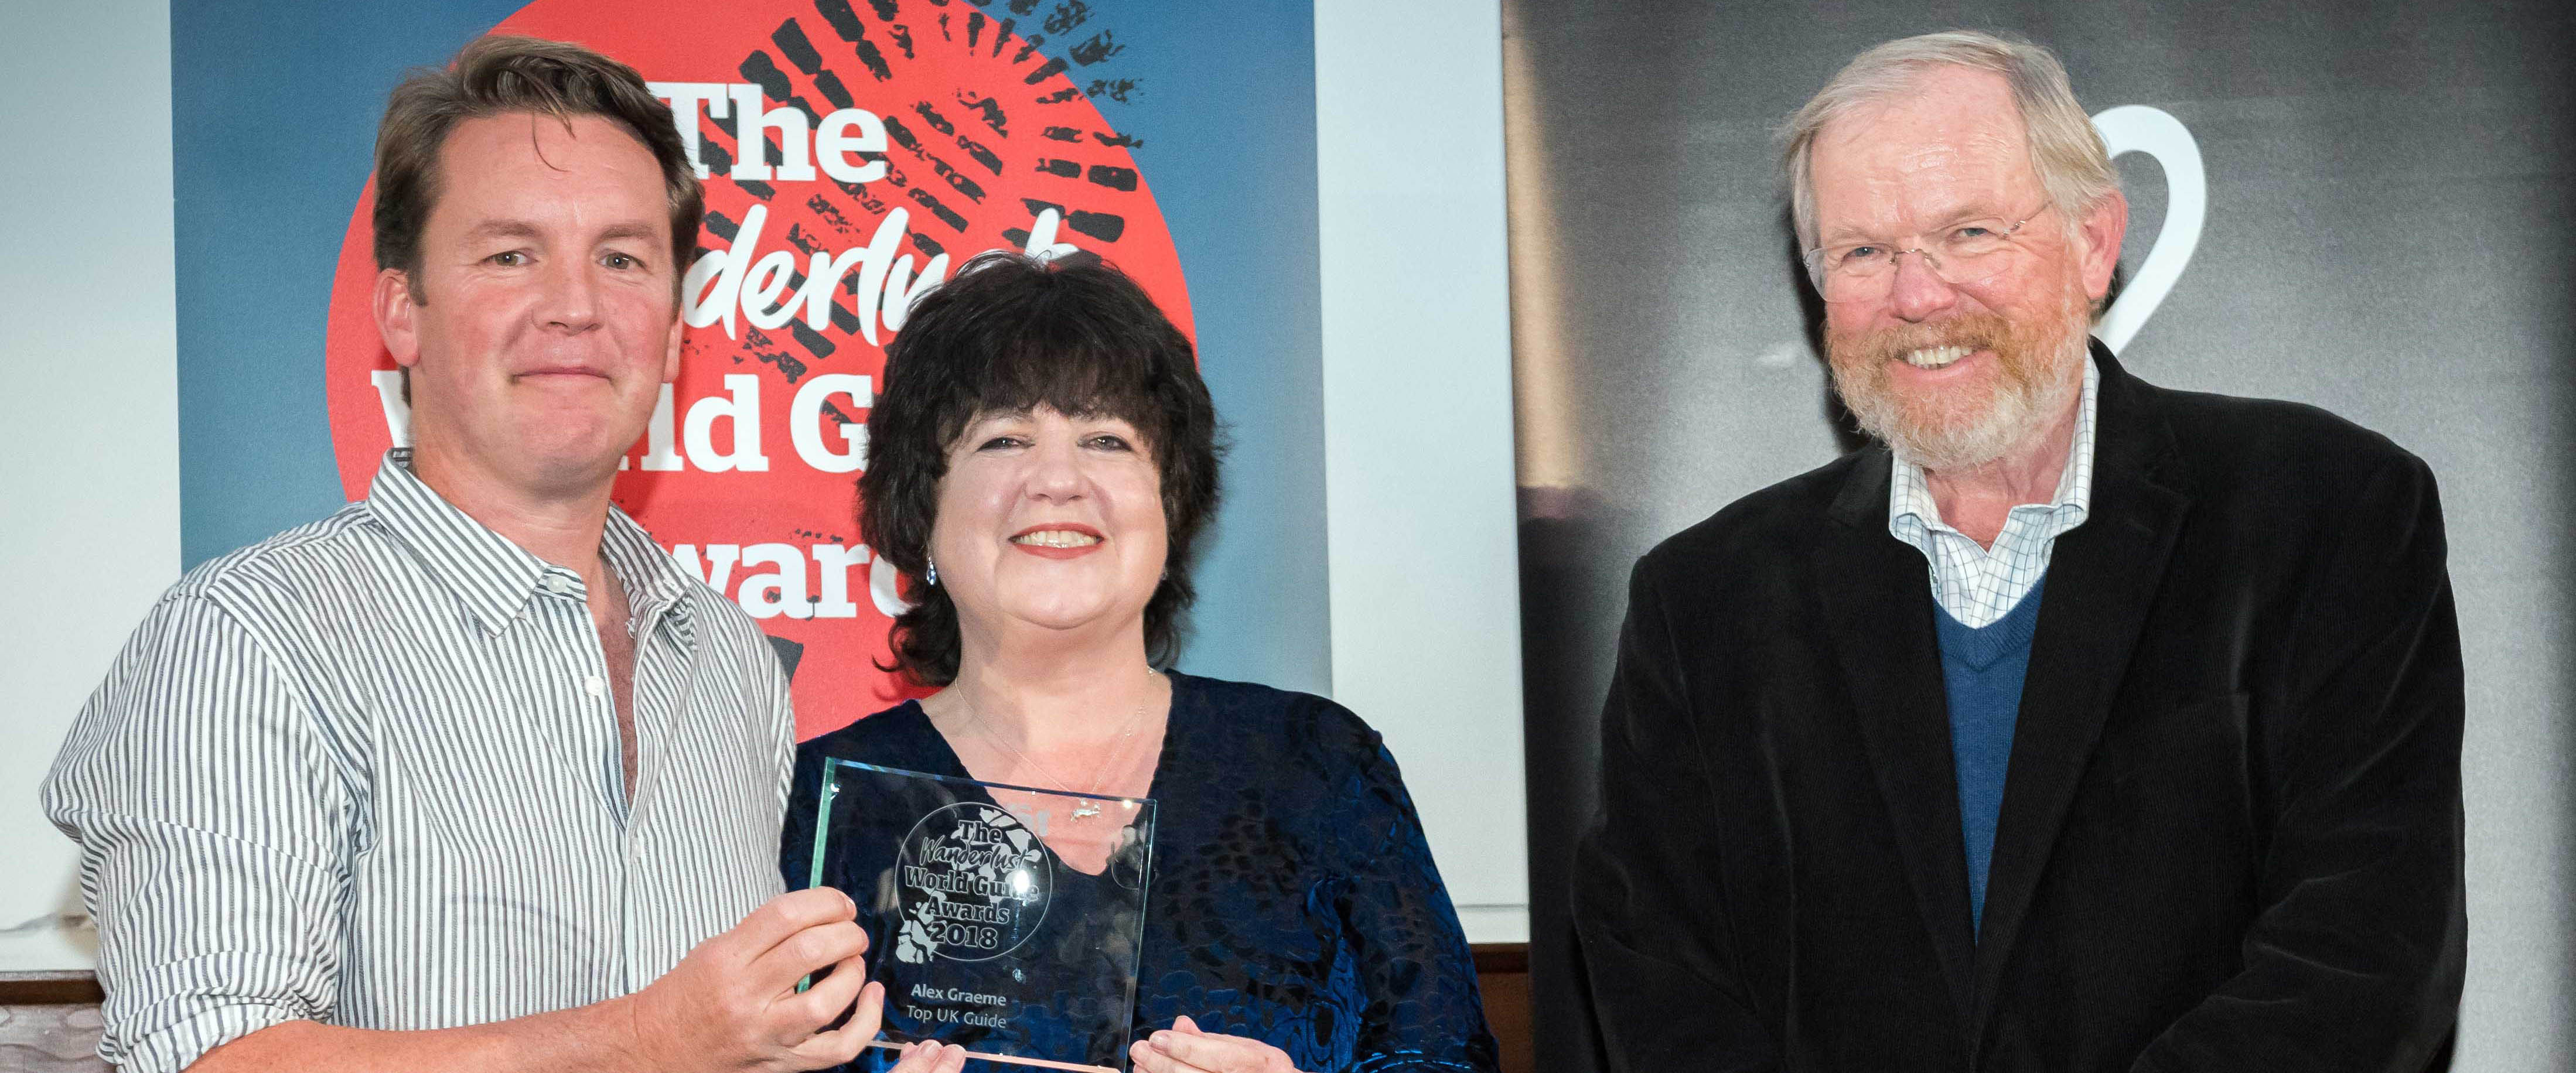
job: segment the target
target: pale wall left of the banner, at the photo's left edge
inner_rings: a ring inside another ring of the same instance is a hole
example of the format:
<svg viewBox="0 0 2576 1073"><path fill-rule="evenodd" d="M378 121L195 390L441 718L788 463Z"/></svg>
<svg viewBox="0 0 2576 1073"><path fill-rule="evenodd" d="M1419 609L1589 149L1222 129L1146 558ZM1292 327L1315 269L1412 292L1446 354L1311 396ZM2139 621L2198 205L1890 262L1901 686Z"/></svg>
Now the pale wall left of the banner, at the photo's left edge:
<svg viewBox="0 0 2576 1073"><path fill-rule="evenodd" d="M178 579L170 15L10 10L0 131L0 973L85 965L77 854L36 813L72 710Z"/></svg>

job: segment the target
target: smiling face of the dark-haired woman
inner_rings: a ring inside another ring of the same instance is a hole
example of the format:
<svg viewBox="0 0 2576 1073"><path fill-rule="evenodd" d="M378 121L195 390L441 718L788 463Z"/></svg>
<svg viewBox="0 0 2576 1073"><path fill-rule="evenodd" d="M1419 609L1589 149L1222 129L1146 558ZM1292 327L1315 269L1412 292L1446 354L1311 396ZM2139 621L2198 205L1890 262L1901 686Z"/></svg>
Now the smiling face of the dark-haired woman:
<svg viewBox="0 0 2576 1073"><path fill-rule="evenodd" d="M1126 419L989 412L948 448L930 558L969 646L1020 625L1141 636L1164 551L1162 479Z"/></svg>

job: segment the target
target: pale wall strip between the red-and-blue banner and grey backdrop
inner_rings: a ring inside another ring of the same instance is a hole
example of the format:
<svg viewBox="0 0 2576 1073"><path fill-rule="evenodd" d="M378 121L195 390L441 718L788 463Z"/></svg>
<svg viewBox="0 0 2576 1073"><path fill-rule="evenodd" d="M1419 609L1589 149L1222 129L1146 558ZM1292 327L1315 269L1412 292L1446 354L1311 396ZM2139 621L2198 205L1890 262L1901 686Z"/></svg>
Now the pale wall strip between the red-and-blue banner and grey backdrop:
<svg viewBox="0 0 2576 1073"><path fill-rule="evenodd" d="M1468 939L1528 942L1502 15L1314 26L1332 690L1404 764Z"/></svg>

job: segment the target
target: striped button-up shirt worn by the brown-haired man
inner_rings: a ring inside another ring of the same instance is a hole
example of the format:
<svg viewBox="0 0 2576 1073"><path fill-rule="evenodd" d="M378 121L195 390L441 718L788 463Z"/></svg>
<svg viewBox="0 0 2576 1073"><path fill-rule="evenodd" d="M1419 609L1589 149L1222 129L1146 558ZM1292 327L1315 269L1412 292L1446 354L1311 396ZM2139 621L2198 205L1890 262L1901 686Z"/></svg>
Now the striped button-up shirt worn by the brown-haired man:
<svg viewBox="0 0 2576 1073"><path fill-rule="evenodd" d="M72 726L100 1055L616 998L781 890L793 720L739 607L611 509L636 787L580 574L389 453L363 502L180 579Z"/></svg>

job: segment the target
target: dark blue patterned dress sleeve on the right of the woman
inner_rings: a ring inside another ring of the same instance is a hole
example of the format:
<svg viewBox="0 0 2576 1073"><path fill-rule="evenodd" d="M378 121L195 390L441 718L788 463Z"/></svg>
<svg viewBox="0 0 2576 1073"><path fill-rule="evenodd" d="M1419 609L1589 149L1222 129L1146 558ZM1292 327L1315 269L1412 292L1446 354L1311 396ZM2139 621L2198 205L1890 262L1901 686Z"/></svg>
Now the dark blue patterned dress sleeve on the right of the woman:
<svg viewBox="0 0 2576 1073"><path fill-rule="evenodd" d="M1355 823L1345 826L1352 857L1340 911L1368 1006L1347 1073L1497 1070L1476 957L1422 839L1414 798L1376 736L1355 811Z"/></svg>

